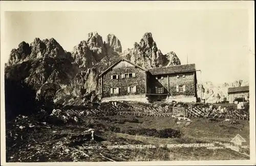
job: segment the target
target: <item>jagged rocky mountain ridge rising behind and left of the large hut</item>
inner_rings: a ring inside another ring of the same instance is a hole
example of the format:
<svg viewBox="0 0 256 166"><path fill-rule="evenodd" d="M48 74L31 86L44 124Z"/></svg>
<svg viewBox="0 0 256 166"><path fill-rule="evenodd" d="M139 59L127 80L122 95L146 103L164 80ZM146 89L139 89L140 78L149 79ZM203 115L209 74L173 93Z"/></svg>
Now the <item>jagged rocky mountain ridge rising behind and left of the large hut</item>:
<svg viewBox="0 0 256 166"><path fill-rule="evenodd" d="M108 34L104 41L97 32L88 33L87 39L78 42L71 52L54 38L35 38L30 44L23 41L11 50L5 79L31 86L38 101L82 105L101 100L98 75L117 58L124 57L144 68L181 64L175 52L162 54L150 32L133 48L122 49L114 34Z"/></svg>

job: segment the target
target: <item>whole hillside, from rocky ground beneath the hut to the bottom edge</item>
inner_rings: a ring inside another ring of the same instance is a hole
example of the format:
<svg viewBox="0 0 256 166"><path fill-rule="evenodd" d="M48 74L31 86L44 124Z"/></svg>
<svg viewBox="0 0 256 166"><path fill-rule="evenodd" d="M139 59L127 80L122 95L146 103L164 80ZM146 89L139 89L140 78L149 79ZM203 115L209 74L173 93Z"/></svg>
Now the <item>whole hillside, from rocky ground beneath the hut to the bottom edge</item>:
<svg viewBox="0 0 256 166"><path fill-rule="evenodd" d="M118 105L155 107L154 104L134 102ZM17 116L6 125L6 160L72 162L249 159L249 121L106 115L104 109L111 106L111 103L92 103L83 107L56 108L51 114L41 110L32 115ZM85 113L96 109L102 111L94 115ZM87 132L90 128L95 130L93 140L91 133ZM230 140L238 133L246 140L243 147L230 144ZM178 144L190 147L170 147Z"/></svg>

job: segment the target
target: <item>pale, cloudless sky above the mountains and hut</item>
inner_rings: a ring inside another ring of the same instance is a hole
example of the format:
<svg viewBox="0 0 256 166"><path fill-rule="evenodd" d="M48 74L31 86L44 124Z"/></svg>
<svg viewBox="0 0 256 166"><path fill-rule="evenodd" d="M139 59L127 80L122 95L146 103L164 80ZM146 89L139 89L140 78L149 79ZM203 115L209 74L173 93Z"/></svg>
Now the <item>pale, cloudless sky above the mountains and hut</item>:
<svg viewBox="0 0 256 166"><path fill-rule="evenodd" d="M249 79L248 11L154 10L154 11L41 11L6 12L6 50L22 41L55 38L64 50L98 32L105 40L114 34L122 50L133 48L144 33L151 32L163 54L176 53L182 64L195 63L199 82L232 82ZM8 53L8 54L9 54ZM5 55L5 61L9 55Z"/></svg>

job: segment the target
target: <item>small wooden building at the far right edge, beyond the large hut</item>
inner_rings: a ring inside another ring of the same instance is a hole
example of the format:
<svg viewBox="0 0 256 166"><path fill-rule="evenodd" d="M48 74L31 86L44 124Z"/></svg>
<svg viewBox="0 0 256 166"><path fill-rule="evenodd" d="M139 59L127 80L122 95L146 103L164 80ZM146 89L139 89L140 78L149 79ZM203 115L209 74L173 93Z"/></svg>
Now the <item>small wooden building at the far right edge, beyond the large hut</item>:
<svg viewBox="0 0 256 166"><path fill-rule="evenodd" d="M230 87L227 89L227 93L229 103L232 103L234 99L240 97L245 97L245 100L248 100L249 86Z"/></svg>

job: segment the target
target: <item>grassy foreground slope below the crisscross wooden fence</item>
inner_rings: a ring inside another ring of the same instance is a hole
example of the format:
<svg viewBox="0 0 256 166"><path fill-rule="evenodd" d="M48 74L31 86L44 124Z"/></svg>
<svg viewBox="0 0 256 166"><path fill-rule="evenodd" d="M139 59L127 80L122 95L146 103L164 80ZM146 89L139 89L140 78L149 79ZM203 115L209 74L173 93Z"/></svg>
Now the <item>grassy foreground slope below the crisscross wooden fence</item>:
<svg viewBox="0 0 256 166"><path fill-rule="evenodd" d="M88 117L83 123L62 126L36 123L33 117L26 121L27 124L33 123L34 127L20 129L22 124L19 121L7 124L7 162L249 159L225 148L166 148L167 144L229 143L237 134L246 140L245 145L249 147L248 121L229 124L223 120L193 118L188 126L186 121L172 117ZM95 140L90 140L83 133L89 128L95 128ZM172 132L173 138L165 137ZM180 135L177 134L179 132ZM108 149L113 145L154 145L155 148ZM86 146L100 146L102 149L80 149ZM249 148L243 151L248 154Z"/></svg>

